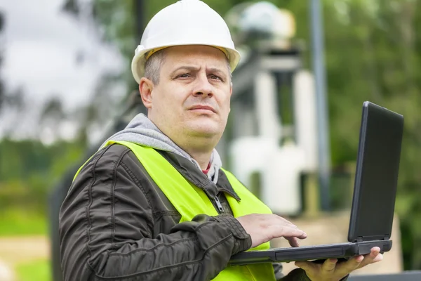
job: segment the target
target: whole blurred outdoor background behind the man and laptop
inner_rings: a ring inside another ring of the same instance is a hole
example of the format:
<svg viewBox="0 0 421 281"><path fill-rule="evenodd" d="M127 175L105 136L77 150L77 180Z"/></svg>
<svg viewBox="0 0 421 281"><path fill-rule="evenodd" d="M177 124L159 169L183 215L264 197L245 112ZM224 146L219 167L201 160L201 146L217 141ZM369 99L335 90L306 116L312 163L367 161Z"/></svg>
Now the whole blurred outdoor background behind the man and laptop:
<svg viewBox="0 0 421 281"><path fill-rule="evenodd" d="M0 280L61 280L62 199L99 143L145 112L131 58L174 2L0 1ZM305 243L345 242L361 105L401 113L394 247L361 274L421 270L421 0L205 2L242 55L225 166Z"/></svg>

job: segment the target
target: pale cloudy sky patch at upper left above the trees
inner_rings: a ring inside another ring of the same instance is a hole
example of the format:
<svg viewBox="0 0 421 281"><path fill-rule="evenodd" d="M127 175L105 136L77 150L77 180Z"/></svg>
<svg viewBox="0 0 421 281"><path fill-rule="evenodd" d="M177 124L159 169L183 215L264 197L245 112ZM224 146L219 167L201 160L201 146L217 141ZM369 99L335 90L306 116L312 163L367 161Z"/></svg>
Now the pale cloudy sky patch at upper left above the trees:
<svg viewBox="0 0 421 281"><path fill-rule="evenodd" d="M60 5L61 0L0 0L5 15L1 77L10 91L22 87L25 99L34 105L33 112L25 112L29 123L53 96L67 109L83 105L102 71L124 67L116 48L100 43L87 20L62 13ZM81 63L78 54L83 54ZM11 118L2 116L1 123Z"/></svg>

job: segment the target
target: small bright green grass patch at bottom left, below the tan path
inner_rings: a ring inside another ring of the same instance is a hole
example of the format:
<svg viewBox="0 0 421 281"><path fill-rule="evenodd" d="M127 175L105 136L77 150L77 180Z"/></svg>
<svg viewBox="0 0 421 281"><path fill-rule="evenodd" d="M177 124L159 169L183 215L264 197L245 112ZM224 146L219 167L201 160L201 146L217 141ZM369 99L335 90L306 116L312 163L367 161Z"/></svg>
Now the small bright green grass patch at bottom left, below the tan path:
<svg viewBox="0 0 421 281"><path fill-rule="evenodd" d="M48 260L20 263L16 266L17 281L51 281L51 266Z"/></svg>

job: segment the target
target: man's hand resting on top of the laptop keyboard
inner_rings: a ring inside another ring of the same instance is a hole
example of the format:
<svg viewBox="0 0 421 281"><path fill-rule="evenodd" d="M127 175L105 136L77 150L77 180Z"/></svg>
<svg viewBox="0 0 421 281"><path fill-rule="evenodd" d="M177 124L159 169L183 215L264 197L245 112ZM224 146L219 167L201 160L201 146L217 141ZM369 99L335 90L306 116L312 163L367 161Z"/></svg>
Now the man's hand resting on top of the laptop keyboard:
<svg viewBox="0 0 421 281"><path fill-rule="evenodd" d="M298 247L298 239L307 237L307 233L293 223L274 214L249 214L240 216L237 221L250 235L252 248L278 237L288 240L291 247Z"/></svg>

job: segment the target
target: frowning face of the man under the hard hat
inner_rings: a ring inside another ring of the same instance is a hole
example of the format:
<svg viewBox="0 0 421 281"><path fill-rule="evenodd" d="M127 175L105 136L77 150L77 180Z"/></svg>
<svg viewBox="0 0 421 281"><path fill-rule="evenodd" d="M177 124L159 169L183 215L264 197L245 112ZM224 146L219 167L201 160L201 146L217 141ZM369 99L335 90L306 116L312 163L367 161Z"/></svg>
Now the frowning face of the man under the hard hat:
<svg viewBox="0 0 421 281"><path fill-rule="evenodd" d="M222 51L210 46L167 48L159 84L152 88L148 117L175 143L191 137L219 141L232 93Z"/></svg>

